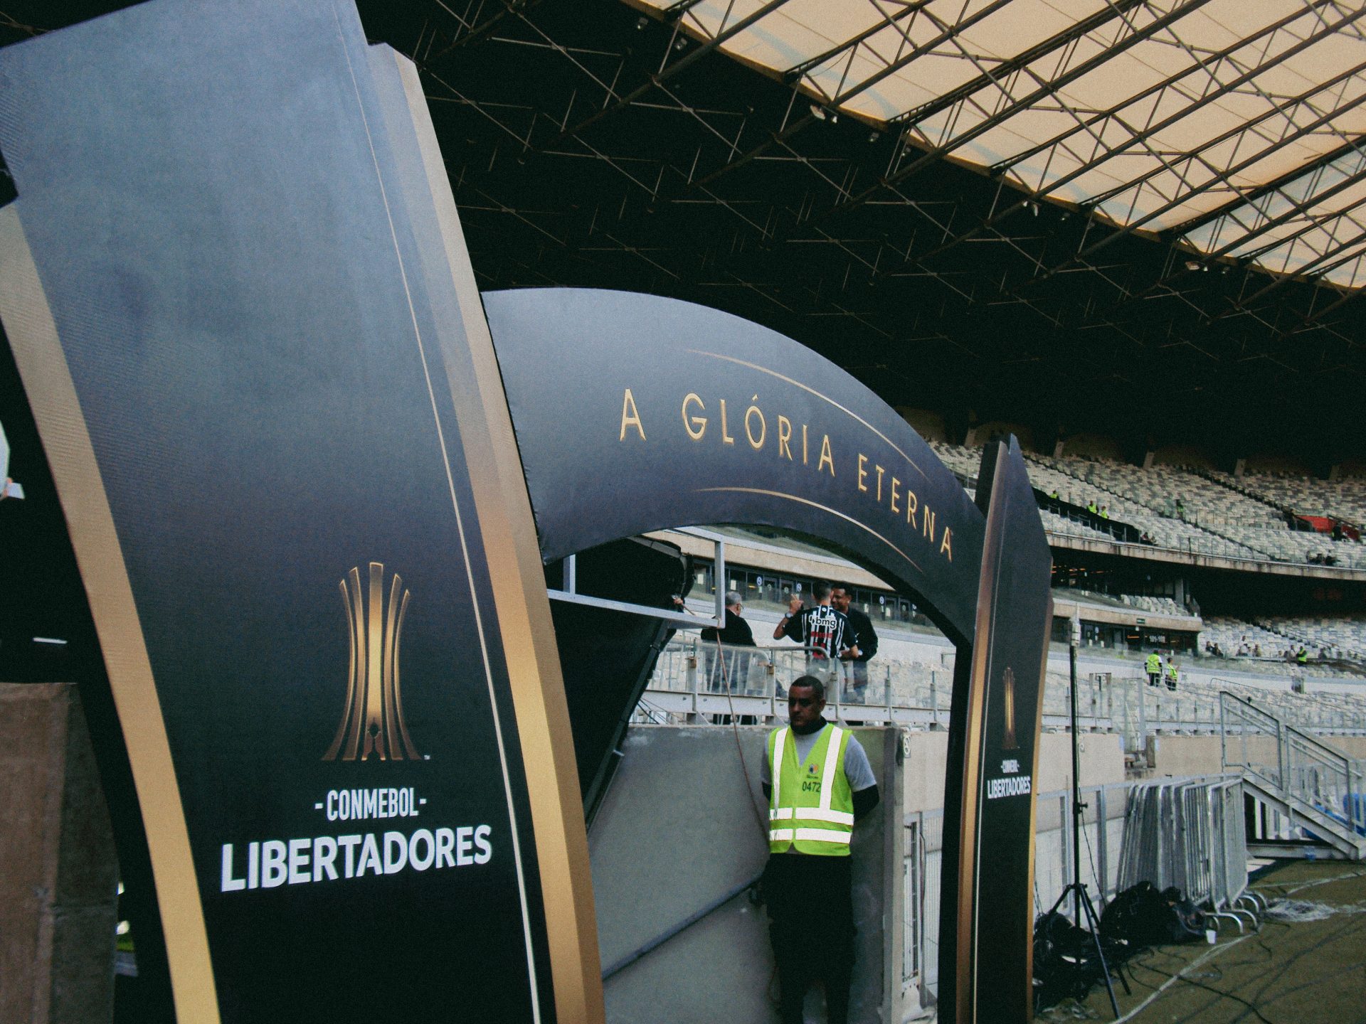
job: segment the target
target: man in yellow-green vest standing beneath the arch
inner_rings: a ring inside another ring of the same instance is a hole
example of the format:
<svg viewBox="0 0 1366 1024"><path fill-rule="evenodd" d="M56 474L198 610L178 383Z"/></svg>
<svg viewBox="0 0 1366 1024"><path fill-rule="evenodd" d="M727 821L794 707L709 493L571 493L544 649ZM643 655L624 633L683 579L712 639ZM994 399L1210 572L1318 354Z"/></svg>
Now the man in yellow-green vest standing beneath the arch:
<svg viewBox="0 0 1366 1024"><path fill-rule="evenodd" d="M854 968L850 840L877 806L877 780L852 733L822 717L825 687L787 691L788 725L769 733L759 778L769 801L762 893L779 976L779 1017L802 1024L802 1001L825 982L831 1024L848 1021Z"/></svg>

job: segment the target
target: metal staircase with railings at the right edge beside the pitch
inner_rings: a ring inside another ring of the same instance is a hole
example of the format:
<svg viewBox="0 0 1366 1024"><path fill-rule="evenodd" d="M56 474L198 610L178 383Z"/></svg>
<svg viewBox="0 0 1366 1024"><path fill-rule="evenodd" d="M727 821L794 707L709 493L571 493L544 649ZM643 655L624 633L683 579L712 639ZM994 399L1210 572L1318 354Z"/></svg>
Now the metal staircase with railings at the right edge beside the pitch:
<svg viewBox="0 0 1366 1024"><path fill-rule="evenodd" d="M1285 837L1249 840L1255 855L1366 860L1362 762L1227 691L1218 695L1225 771L1288 821Z"/></svg>

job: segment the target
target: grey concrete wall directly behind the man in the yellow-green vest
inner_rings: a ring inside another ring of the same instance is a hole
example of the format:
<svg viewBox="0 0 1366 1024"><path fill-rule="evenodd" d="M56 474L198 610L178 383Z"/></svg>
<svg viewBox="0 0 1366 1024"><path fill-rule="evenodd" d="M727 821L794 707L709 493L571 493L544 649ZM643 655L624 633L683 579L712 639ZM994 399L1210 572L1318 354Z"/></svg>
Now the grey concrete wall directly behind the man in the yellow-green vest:
<svg viewBox="0 0 1366 1024"><path fill-rule="evenodd" d="M882 791L854 840L858 950L851 1020L900 1024L899 733L856 729ZM768 859L759 793L766 730L634 728L589 833L604 968L757 878ZM742 767L743 765L743 767ZM746 777L747 771L747 777ZM820 923L813 922L813 945ZM777 1021L768 918L744 896L605 983L608 1021ZM824 1020L820 991L807 1014Z"/></svg>

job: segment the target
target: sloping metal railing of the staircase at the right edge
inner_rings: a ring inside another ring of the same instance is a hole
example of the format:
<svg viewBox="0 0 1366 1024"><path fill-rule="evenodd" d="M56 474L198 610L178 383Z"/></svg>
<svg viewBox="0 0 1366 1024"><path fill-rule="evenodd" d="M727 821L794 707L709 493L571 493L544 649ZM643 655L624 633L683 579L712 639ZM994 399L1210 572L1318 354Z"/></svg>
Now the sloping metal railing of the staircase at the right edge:
<svg viewBox="0 0 1366 1024"><path fill-rule="evenodd" d="M1366 836L1362 762L1235 694L1220 694L1221 758Z"/></svg>

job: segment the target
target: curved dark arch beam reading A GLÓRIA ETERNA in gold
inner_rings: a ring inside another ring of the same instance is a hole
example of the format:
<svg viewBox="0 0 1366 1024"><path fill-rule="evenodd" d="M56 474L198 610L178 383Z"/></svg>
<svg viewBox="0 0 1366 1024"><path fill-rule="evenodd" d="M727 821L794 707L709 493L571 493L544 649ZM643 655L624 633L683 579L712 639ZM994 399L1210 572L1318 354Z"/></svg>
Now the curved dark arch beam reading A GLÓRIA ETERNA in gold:
<svg viewBox="0 0 1366 1024"><path fill-rule="evenodd" d="M971 636L981 513L906 421L829 360L676 299L484 300L546 560L667 527L784 527Z"/></svg>

